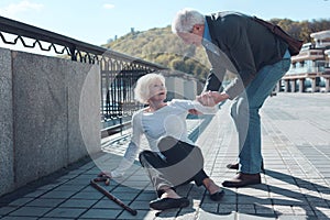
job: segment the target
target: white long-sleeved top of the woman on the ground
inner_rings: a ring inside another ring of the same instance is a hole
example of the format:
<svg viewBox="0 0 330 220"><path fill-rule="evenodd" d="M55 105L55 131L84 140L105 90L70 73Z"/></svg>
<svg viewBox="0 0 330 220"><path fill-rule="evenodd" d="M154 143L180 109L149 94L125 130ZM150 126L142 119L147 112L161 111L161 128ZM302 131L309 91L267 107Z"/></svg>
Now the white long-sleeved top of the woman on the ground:
<svg viewBox="0 0 330 220"><path fill-rule="evenodd" d="M133 164L139 150L142 134L147 139L150 150L160 152L157 142L163 136L174 136L183 142L194 144L188 139L186 118L188 110L196 109L204 114L215 114L218 107L205 107L198 101L173 99L167 106L154 112L141 109L132 118L132 138L119 166L111 172L112 177L120 177ZM158 153L161 156L162 154Z"/></svg>

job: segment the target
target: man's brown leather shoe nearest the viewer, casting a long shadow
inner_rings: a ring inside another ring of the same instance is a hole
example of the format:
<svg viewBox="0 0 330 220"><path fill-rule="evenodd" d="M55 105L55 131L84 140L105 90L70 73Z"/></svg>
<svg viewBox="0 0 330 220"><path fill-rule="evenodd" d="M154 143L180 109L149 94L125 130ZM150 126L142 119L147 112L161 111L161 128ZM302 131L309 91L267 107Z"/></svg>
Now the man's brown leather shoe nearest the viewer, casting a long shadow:
<svg viewBox="0 0 330 220"><path fill-rule="evenodd" d="M248 185L261 184L260 174L239 173L233 179L222 183L224 187L244 187Z"/></svg>

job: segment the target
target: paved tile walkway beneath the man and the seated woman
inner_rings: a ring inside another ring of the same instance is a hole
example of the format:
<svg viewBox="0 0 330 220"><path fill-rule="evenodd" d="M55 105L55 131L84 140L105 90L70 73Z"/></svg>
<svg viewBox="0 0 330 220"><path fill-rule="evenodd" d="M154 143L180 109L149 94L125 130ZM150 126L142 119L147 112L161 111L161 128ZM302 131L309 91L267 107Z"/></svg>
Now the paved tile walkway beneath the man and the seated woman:
<svg viewBox="0 0 330 220"><path fill-rule="evenodd" d="M188 120L205 169L219 184L235 174L226 168L238 155L229 108L230 102L224 103L205 129L207 119ZM89 182L100 169L117 166L127 138L105 141L105 154L92 162L77 163L0 198L0 219L330 219L330 94L278 94L266 100L261 116L263 184L226 188L219 202L191 183L178 189L190 199L188 208L151 210L155 194L138 162L124 178L105 186L138 216L102 196ZM195 130L198 125L201 129Z"/></svg>

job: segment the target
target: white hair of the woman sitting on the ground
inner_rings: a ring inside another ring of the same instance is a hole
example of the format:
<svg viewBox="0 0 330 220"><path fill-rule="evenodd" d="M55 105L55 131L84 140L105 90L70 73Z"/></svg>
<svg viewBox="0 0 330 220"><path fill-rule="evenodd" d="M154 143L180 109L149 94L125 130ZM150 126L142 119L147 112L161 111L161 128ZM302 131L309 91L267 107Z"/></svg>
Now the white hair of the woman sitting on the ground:
<svg viewBox="0 0 330 220"><path fill-rule="evenodd" d="M147 103L148 99L151 98L150 85L155 80L161 80L165 87L165 77L161 74L146 74L138 79L134 89L134 96L139 102Z"/></svg>

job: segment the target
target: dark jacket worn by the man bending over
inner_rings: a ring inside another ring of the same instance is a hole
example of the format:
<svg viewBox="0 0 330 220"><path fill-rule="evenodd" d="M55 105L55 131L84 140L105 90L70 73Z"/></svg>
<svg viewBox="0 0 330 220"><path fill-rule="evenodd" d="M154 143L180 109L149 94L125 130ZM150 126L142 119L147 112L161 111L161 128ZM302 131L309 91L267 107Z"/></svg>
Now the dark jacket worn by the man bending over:
<svg viewBox="0 0 330 220"><path fill-rule="evenodd" d="M205 90L219 90L227 70L238 74L226 91L231 99L240 95L257 72L277 63L287 44L256 23L237 12L219 12L206 16L215 50L206 50L211 63Z"/></svg>

